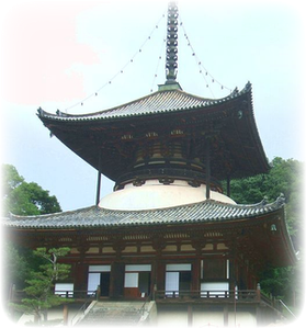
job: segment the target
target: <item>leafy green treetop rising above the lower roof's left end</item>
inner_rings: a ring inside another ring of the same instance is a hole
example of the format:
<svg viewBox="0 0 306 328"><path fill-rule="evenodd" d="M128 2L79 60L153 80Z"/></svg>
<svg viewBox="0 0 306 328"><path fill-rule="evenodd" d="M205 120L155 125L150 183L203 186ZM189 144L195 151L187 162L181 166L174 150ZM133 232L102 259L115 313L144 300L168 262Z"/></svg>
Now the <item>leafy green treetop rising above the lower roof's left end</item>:
<svg viewBox="0 0 306 328"><path fill-rule="evenodd" d="M25 182L11 165L0 166L0 216L38 215L60 212L55 196L35 182Z"/></svg>

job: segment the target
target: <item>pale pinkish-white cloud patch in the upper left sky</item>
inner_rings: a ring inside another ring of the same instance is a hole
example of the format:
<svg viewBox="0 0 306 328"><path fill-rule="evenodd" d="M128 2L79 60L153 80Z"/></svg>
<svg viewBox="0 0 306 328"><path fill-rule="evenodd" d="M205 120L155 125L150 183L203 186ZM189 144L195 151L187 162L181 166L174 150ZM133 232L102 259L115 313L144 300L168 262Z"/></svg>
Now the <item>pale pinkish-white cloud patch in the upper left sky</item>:
<svg viewBox="0 0 306 328"><path fill-rule="evenodd" d="M94 2L19 2L2 20L2 98L38 105L84 97L75 64L99 63L77 42L76 19Z"/></svg>

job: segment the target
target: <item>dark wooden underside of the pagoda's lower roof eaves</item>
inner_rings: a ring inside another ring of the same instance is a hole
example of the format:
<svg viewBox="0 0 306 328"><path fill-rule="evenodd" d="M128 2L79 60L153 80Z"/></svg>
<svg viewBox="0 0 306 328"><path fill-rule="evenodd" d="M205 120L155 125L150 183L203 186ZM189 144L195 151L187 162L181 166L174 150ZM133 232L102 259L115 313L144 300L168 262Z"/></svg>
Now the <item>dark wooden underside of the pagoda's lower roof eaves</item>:
<svg viewBox="0 0 306 328"><path fill-rule="evenodd" d="M128 253L128 249L139 250L143 246L151 247L151 251L146 256L154 256L155 252L171 256L171 252L167 253L167 247L175 246L179 251L175 256L180 258L201 253L231 253L233 256L235 252L245 259L251 259L259 270L290 265L296 261L286 230L283 208L249 218L167 225L56 229L2 226L2 236L31 248L55 245L87 251L95 248L99 249L98 255L102 257L116 257L118 255L116 249L124 251L125 248L127 251L123 252L124 256L141 256ZM183 245L188 245L189 248L184 248ZM224 247L218 249L218 245ZM113 248L114 252L107 255L103 248Z"/></svg>

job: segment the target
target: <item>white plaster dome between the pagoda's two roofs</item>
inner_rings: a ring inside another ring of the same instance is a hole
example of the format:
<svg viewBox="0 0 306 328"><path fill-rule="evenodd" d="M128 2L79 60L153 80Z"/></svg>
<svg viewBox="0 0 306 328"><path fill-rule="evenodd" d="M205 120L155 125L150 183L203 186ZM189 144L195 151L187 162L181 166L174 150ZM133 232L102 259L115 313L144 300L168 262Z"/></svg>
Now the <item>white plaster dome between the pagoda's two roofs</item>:
<svg viewBox="0 0 306 328"><path fill-rule="evenodd" d="M133 183L126 184L123 190L104 196L99 206L117 211L144 211L194 204L205 200L205 184L194 188L186 181L175 180L166 185L158 180L148 180L141 186L135 186ZM236 204L230 197L215 191L211 191L211 200Z"/></svg>

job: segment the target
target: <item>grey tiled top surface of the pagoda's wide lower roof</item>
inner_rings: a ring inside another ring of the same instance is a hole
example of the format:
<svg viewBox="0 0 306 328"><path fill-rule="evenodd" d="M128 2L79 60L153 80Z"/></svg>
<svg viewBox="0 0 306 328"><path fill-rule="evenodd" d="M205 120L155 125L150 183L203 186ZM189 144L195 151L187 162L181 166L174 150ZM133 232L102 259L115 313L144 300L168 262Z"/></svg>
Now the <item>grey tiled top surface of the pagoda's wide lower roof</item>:
<svg viewBox="0 0 306 328"><path fill-rule="evenodd" d="M225 204L206 200L195 204L159 210L117 211L90 206L55 214L19 216L0 219L0 226L11 229L91 229L128 226L160 226L252 219L273 212L284 212L279 197L274 203L253 205Z"/></svg>

